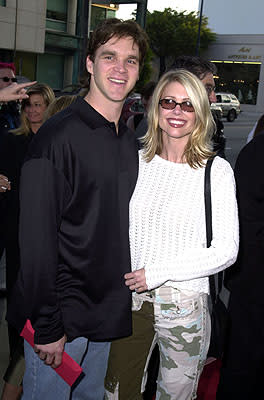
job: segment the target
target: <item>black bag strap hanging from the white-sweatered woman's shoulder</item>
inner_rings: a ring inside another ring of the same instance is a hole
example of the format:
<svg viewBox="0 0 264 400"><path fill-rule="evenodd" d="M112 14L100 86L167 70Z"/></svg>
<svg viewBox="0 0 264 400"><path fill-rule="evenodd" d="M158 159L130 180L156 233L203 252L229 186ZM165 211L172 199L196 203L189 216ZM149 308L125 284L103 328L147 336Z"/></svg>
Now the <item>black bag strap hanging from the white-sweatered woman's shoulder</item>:
<svg viewBox="0 0 264 400"><path fill-rule="evenodd" d="M205 202L205 222L206 222L206 243L207 247L211 246L211 241L213 237L213 229L212 229L212 202L211 202L211 166L214 161L214 157L210 158L205 167L205 175L204 175L204 202ZM212 299L212 303L214 304L217 300L219 293L221 292L223 285L223 272L219 272L218 276L218 290L216 293L215 287L215 277L214 275L209 276L210 283L210 295Z"/></svg>

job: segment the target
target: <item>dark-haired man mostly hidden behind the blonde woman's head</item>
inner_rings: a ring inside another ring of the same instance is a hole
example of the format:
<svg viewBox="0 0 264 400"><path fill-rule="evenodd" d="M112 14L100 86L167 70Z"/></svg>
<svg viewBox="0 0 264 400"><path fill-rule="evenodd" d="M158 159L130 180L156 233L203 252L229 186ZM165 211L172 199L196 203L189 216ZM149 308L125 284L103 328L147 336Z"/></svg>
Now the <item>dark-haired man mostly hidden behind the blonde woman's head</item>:
<svg viewBox="0 0 264 400"><path fill-rule="evenodd" d="M186 69L196 75L205 86L209 103L216 102L214 75L216 75L217 69L212 62L198 56L179 56L175 59L170 69L177 68ZM226 138L224 135L224 124L218 118L215 110L211 109L211 112L216 124L216 130L212 137L214 151L218 156L225 158Z"/></svg>

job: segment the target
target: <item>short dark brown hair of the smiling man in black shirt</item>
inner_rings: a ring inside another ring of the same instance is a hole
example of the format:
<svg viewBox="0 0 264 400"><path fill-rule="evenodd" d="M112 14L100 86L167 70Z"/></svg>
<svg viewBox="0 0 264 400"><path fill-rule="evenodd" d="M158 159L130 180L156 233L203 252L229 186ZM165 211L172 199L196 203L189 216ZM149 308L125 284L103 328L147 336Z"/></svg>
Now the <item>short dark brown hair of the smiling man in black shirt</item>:
<svg viewBox="0 0 264 400"><path fill-rule="evenodd" d="M148 37L146 32L135 21L122 21L118 18L108 18L103 20L92 32L89 39L86 57L89 56L91 61L95 60L96 50L107 43L112 37L118 39L131 37L139 48L139 65L143 67L144 58L148 50ZM90 86L89 72L85 71L81 83L84 87Z"/></svg>

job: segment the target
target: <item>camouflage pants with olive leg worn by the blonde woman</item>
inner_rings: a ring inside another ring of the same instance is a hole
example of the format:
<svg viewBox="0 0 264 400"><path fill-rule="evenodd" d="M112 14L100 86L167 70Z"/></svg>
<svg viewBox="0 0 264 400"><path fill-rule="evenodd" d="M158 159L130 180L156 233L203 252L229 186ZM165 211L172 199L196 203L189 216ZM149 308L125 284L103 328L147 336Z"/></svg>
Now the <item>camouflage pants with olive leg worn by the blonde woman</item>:
<svg viewBox="0 0 264 400"><path fill-rule="evenodd" d="M196 398L210 341L207 295L161 287L134 295L133 335L112 342L105 379L108 400L142 400L156 343L156 400Z"/></svg>

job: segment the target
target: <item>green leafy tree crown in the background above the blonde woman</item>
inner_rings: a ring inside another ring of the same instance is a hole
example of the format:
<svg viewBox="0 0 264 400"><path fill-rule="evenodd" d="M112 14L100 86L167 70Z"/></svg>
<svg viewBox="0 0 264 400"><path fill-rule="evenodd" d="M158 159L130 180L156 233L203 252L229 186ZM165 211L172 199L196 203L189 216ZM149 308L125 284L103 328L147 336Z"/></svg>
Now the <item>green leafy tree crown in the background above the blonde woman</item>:
<svg viewBox="0 0 264 400"><path fill-rule="evenodd" d="M199 13L177 12L171 8L147 13L146 31L150 47L160 58L161 69L165 69L166 57L195 55L199 27ZM207 26L208 20L202 17L200 51L207 49L215 41L216 35ZM161 71L164 72L164 71Z"/></svg>

